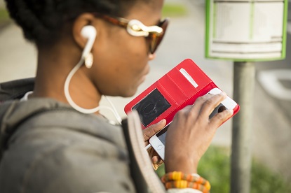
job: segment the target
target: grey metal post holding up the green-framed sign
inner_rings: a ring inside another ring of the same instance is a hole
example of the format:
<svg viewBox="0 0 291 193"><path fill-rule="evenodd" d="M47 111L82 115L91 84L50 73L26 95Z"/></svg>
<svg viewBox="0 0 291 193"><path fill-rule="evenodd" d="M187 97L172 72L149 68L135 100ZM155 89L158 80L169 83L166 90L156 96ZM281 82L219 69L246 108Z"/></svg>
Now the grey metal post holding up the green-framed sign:
<svg viewBox="0 0 291 193"><path fill-rule="evenodd" d="M234 62L234 101L241 106L241 110L233 119L231 193L250 192L254 89L255 65Z"/></svg>

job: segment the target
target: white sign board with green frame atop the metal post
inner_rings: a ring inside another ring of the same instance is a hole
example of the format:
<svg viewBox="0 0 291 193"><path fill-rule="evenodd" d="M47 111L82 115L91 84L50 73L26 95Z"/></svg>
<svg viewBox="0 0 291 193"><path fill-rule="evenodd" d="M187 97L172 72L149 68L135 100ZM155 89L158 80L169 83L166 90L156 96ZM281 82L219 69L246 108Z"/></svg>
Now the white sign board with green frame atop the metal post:
<svg viewBox="0 0 291 193"><path fill-rule="evenodd" d="M206 57L285 58L287 0L207 0Z"/></svg>

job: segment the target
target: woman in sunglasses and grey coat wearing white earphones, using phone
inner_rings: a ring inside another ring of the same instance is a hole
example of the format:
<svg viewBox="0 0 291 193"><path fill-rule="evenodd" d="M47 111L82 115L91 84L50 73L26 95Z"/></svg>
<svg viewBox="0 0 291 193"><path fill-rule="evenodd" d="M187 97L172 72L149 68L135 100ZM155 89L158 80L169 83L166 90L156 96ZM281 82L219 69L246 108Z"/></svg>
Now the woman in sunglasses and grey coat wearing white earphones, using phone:
<svg viewBox="0 0 291 193"><path fill-rule="evenodd" d="M101 96L133 96L149 73L168 21L163 0L7 0L38 50L34 90L1 104L1 192L135 192L121 127L98 110ZM168 129L163 178L169 192L208 191L196 176L215 130L209 115L225 94L180 110ZM144 141L165 121L144 130ZM184 132L179 132L178 128ZM175 142L175 143L173 143ZM153 155L151 155L153 156ZM153 156L154 164L160 164ZM172 172L187 174L187 188ZM190 183L192 183L190 185ZM146 190L144 190L146 191Z"/></svg>

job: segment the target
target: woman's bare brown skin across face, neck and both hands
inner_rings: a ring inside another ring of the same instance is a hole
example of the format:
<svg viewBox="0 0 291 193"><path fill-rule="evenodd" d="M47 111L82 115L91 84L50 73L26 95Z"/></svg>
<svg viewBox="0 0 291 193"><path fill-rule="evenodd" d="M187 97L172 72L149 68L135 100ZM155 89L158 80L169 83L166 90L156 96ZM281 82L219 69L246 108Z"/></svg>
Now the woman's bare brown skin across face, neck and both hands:
<svg viewBox="0 0 291 193"><path fill-rule="evenodd" d="M140 20L147 26L155 25L161 19L163 0L151 3L138 1L130 9L127 19ZM76 71L69 85L72 99L82 108L99 106L102 95L133 96L137 87L149 73L148 62L155 55L149 53L144 37L128 34L126 29L109 24L90 13L79 15L72 25L71 33L64 36L50 48L39 48L38 69L34 94L31 97L50 97L68 103L64 84L69 71L79 62L87 39L81 36L81 29L92 25L97 36L91 50L93 66ZM165 148L166 171L196 173L198 162L207 150L216 129L231 115L224 110L209 120L208 116L225 95L208 94L180 110L168 129ZM96 113L98 114L98 112ZM144 129L144 142L165 127L165 120ZM182 132L181 132L182 130ZM153 149L149 150L154 168L162 162Z"/></svg>

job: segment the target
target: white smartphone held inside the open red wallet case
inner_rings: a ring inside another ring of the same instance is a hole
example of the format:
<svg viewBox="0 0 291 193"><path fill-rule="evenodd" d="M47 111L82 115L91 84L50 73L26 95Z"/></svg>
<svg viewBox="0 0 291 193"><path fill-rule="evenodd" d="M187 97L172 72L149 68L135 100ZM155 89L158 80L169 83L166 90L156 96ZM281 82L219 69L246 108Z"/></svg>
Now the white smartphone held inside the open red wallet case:
<svg viewBox="0 0 291 193"><path fill-rule="evenodd" d="M222 92L222 91L219 90L218 88L214 88L214 89L210 90L210 92L208 92L208 93L219 94L220 92ZM238 104L233 99L231 99L229 96L226 96L226 99L224 99L224 101L219 103L219 105L212 111L209 118L212 118L217 113L220 113L223 110L226 110L226 109L235 110L236 108L238 108ZM154 148L154 150L156 150L158 155L163 160L165 158L165 136L167 134L167 130L168 130L169 125L170 124L168 124L164 129L159 131L158 134L152 136L149 139L149 143L151 144L151 147Z"/></svg>

